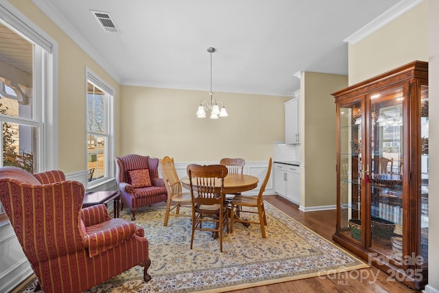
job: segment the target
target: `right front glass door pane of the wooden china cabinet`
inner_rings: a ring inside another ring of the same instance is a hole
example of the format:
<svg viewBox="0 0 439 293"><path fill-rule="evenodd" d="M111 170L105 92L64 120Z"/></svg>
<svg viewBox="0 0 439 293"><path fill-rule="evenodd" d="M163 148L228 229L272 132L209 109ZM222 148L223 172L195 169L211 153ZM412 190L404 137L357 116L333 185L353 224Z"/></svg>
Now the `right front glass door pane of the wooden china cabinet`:
<svg viewBox="0 0 439 293"><path fill-rule="evenodd" d="M404 128L403 91L397 87L368 95L368 162L370 184L370 247L381 255L402 260Z"/></svg>

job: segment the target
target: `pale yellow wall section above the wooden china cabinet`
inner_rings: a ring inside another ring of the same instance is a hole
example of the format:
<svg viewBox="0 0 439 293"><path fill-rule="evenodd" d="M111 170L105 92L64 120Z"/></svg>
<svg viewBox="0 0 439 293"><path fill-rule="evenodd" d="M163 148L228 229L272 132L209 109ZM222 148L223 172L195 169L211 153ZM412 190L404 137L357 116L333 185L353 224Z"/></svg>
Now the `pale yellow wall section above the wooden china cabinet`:
<svg viewBox="0 0 439 293"><path fill-rule="evenodd" d="M349 85L414 60L428 61L428 2L356 44L349 45Z"/></svg>

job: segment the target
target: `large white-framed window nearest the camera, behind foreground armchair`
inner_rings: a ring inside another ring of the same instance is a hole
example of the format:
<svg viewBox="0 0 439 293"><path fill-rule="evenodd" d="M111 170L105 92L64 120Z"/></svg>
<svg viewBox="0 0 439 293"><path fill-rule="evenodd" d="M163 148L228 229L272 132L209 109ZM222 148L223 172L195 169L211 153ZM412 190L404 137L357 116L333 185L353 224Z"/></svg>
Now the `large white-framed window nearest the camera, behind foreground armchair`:
<svg viewBox="0 0 439 293"><path fill-rule="evenodd" d="M12 5L0 5L0 166L34 173L57 165L54 52L51 38ZM2 213L0 203L0 220Z"/></svg>

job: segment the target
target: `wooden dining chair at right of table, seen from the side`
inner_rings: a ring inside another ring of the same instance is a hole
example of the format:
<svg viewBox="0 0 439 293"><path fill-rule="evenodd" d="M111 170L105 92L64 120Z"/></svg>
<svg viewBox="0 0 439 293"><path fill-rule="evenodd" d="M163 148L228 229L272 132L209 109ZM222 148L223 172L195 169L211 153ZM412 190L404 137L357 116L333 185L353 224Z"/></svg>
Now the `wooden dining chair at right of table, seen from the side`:
<svg viewBox="0 0 439 293"><path fill-rule="evenodd" d="M260 224L262 237L266 238L265 226L267 225L267 217L265 215L265 208L263 206L263 191L267 186L268 179L272 173L272 158L268 162L268 170L261 189L259 189L259 194L257 196L241 196L237 195L232 200L230 200L230 233L233 232L233 222L241 222L243 224ZM246 209L243 209L246 207ZM244 220L242 218L246 213L257 213L259 215L259 220Z"/></svg>

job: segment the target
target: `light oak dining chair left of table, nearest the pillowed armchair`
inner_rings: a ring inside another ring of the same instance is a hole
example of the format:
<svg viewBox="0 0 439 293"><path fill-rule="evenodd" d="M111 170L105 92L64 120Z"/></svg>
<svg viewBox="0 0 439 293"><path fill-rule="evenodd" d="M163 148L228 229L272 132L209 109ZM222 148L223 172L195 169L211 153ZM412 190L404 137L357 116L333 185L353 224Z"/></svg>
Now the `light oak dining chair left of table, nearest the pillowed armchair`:
<svg viewBox="0 0 439 293"><path fill-rule="evenodd" d="M191 214L180 214L180 207L191 207L191 193L182 191L180 178L178 178L174 158L165 156L161 161L163 182L167 191L165 223L167 226L169 215L191 217Z"/></svg>

